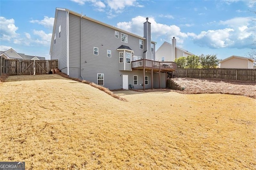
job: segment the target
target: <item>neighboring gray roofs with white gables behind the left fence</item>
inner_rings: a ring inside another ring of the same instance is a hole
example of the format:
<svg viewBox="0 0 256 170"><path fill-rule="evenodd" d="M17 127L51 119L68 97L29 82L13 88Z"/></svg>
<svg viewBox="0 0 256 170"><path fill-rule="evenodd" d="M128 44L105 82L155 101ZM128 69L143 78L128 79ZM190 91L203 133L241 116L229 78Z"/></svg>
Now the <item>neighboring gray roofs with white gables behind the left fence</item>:
<svg viewBox="0 0 256 170"><path fill-rule="evenodd" d="M17 53L12 48L8 49L7 51L0 51L0 57L4 57L5 59L45 60L45 57L37 57L32 55L25 55L23 53Z"/></svg>

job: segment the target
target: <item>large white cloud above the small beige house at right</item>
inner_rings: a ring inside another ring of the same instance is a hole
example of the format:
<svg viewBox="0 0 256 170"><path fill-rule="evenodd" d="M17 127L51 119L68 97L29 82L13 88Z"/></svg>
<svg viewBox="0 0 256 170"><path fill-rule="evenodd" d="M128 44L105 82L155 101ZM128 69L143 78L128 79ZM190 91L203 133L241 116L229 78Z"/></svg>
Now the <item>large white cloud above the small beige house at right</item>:
<svg viewBox="0 0 256 170"><path fill-rule="evenodd" d="M191 36L194 42L198 43L200 46L210 48L250 47L252 45L252 40L255 40L256 38L252 27L250 27L251 22L252 21L248 18L232 18L230 20L219 22L220 25L226 26L226 28L202 31L198 35L190 33L188 36Z"/></svg>

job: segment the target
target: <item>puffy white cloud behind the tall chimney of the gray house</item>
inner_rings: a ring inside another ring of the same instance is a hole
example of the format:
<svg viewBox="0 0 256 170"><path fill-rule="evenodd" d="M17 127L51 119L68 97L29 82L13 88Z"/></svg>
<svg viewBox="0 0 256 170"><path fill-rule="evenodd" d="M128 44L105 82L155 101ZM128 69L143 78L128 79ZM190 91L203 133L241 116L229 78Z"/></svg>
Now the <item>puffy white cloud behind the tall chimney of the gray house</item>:
<svg viewBox="0 0 256 170"><path fill-rule="evenodd" d="M128 32L132 32L137 35L143 35L143 23L146 21L146 17L137 16L132 18L130 22L118 22L117 27ZM172 41L172 37L176 37L177 43L182 44L184 39L188 37L188 35L184 32L181 32L180 28L175 25L166 25L157 23L154 18L149 18L149 22L151 23L151 36L154 38L164 37L163 40L167 42Z"/></svg>

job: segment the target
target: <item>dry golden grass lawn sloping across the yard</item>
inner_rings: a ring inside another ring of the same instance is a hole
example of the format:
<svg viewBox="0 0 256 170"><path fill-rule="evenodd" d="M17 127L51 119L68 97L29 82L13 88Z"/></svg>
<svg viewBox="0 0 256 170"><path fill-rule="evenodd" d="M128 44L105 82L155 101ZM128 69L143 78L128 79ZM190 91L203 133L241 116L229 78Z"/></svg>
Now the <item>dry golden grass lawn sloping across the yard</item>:
<svg viewBox="0 0 256 170"><path fill-rule="evenodd" d="M256 169L256 99L115 91L60 75L0 84L0 160L26 169Z"/></svg>

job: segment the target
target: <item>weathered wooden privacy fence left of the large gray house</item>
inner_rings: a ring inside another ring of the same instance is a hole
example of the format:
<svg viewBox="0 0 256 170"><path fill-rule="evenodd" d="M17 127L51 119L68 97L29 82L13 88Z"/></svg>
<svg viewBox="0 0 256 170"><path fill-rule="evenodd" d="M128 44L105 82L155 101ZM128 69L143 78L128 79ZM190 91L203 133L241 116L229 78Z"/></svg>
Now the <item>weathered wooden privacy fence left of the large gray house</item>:
<svg viewBox="0 0 256 170"><path fill-rule="evenodd" d="M58 60L18 60L0 58L0 76L46 74L58 68Z"/></svg>

